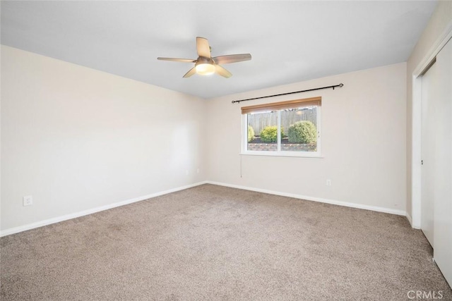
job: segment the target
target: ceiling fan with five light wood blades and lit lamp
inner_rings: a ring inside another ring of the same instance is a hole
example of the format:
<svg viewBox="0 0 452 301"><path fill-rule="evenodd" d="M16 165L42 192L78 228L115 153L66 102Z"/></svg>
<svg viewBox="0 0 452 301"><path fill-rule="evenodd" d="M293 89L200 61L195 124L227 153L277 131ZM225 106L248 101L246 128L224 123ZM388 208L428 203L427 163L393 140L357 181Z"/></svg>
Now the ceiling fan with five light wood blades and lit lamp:
<svg viewBox="0 0 452 301"><path fill-rule="evenodd" d="M215 56L210 55L209 42L205 37L196 37L196 51L198 52L198 59L174 59L174 58L157 58L161 61L179 61L183 63L195 63L195 66L185 73L184 78L189 78L191 75L198 73L200 75L210 75L217 73L224 78L230 78L230 73L225 68L222 68L222 64L225 63L237 63L238 61L251 60L251 54L230 54L227 56Z"/></svg>

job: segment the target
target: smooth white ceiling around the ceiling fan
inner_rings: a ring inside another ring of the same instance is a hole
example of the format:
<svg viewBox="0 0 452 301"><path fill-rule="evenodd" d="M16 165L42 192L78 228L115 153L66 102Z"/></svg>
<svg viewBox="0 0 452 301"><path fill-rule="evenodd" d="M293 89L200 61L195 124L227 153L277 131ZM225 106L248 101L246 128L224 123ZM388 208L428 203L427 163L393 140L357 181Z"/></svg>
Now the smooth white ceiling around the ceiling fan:
<svg viewBox="0 0 452 301"><path fill-rule="evenodd" d="M407 61L436 1L1 1L1 44L203 98ZM197 36L250 53L182 78ZM336 84L336 83L332 83Z"/></svg>

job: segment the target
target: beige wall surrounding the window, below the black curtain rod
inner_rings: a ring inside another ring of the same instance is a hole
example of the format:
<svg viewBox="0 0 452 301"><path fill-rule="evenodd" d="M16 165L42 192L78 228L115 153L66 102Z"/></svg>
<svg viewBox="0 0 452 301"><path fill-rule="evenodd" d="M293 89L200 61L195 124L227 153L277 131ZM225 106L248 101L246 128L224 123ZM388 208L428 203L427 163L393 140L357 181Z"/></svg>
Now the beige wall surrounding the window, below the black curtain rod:
<svg viewBox="0 0 452 301"><path fill-rule="evenodd" d="M406 200L405 79L406 64L398 63L210 99L207 102L208 179L403 214ZM336 90L231 104L234 99L340 82L344 87ZM241 106L315 96L322 97L323 158L241 158ZM326 186L327 178L332 180L331 186Z"/></svg>

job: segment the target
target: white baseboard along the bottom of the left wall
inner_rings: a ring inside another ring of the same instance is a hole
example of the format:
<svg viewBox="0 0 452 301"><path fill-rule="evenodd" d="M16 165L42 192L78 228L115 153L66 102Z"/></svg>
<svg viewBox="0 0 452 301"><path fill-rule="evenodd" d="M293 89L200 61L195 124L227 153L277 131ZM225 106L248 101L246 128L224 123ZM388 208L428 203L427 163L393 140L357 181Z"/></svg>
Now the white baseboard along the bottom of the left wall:
<svg viewBox="0 0 452 301"><path fill-rule="evenodd" d="M34 228L39 228L39 227L42 227L42 226L47 226L47 225L50 225L52 223L59 223L60 221L67 221L68 219L75 219L75 218L80 217L80 216L85 216L85 215L93 214L93 213L96 213L96 212L99 212L99 211L112 209L114 207L124 206L126 204L131 204L131 203L134 203L134 202L140 202L140 201L143 201L145 199L150 199L152 197L158 197L160 195L167 195L168 193L171 193L171 192L177 192L179 190L192 188L192 187L195 187L195 186L198 186L198 185L203 185L203 184L206 184L206 183L207 183L206 181L198 182L198 183L185 185L185 186L178 187L178 188L172 188L172 189L165 190L165 191L162 191L162 192L155 192L155 193L150 194L150 195L143 195L141 197L134 197L133 199L126 199L125 201L121 201L121 202L117 202L117 203L113 203L113 204L107 204L105 206L95 207L93 209L87 209L87 210L79 211L79 212L76 212L76 213L73 213L73 214L66 214L64 216L57 216L57 217L54 217L52 219L45 219L44 221L37 221L36 223L28 223L27 225L18 226L18 227L6 229L4 231L0 231L0 237L6 236L6 235L11 235L11 234L14 234L14 233L27 231L27 230L31 230L31 229L34 229Z"/></svg>

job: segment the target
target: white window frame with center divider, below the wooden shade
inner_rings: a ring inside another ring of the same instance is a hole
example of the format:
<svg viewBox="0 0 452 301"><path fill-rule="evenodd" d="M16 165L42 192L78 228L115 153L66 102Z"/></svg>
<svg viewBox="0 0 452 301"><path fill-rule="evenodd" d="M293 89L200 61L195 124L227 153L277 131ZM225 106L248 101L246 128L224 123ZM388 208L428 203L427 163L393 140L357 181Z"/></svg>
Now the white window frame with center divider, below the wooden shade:
<svg viewBox="0 0 452 301"><path fill-rule="evenodd" d="M300 105L299 107L302 107ZM316 152L287 152L281 150L281 111L273 110L278 112L278 150L277 151L249 151L248 150L248 114L242 114L242 154L252 155L252 156L297 156L297 157L307 157L307 158L321 158L321 106L317 107L317 150Z"/></svg>

